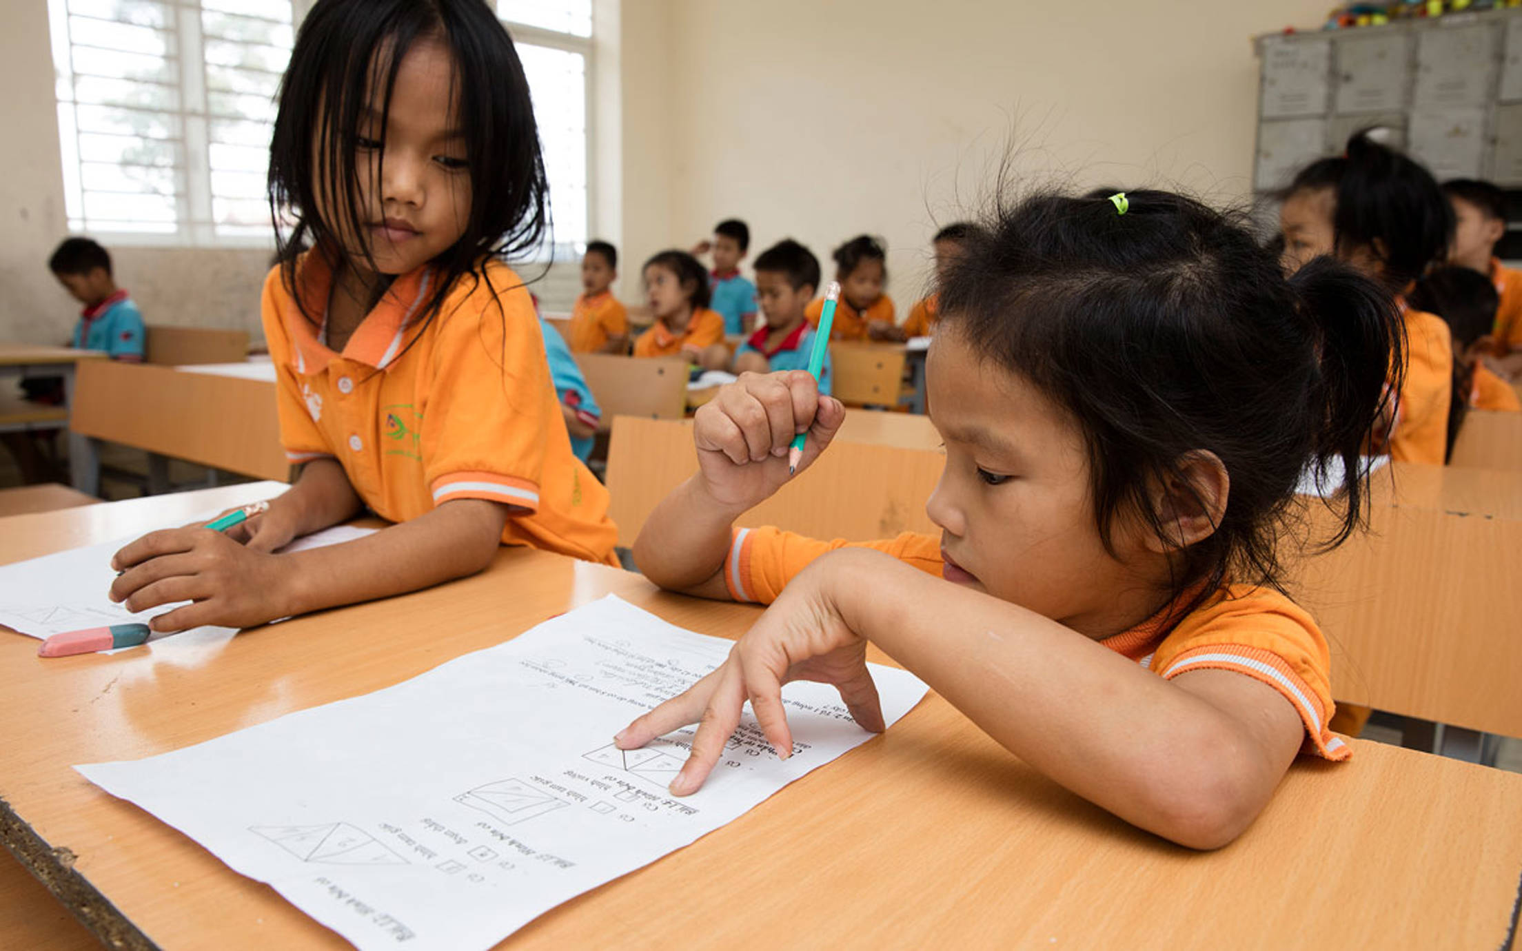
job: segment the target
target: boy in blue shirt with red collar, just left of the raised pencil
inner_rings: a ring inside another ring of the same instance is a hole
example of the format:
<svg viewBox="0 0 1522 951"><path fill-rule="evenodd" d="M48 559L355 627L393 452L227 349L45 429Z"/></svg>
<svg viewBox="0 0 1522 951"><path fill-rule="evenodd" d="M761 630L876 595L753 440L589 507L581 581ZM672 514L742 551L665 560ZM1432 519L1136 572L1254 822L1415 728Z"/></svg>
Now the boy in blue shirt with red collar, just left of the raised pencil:
<svg viewBox="0 0 1522 951"><path fill-rule="evenodd" d="M819 289L819 259L791 237L781 240L756 259L756 297L766 327L761 327L735 350L728 361L723 344L711 347L705 361L709 368L729 364L735 373L770 373L773 370L808 370L814 348L814 330L804 320L808 301ZM717 359L717 365L711 361ZM819 391L829 393L829 353L819 371Z"/></svg>

